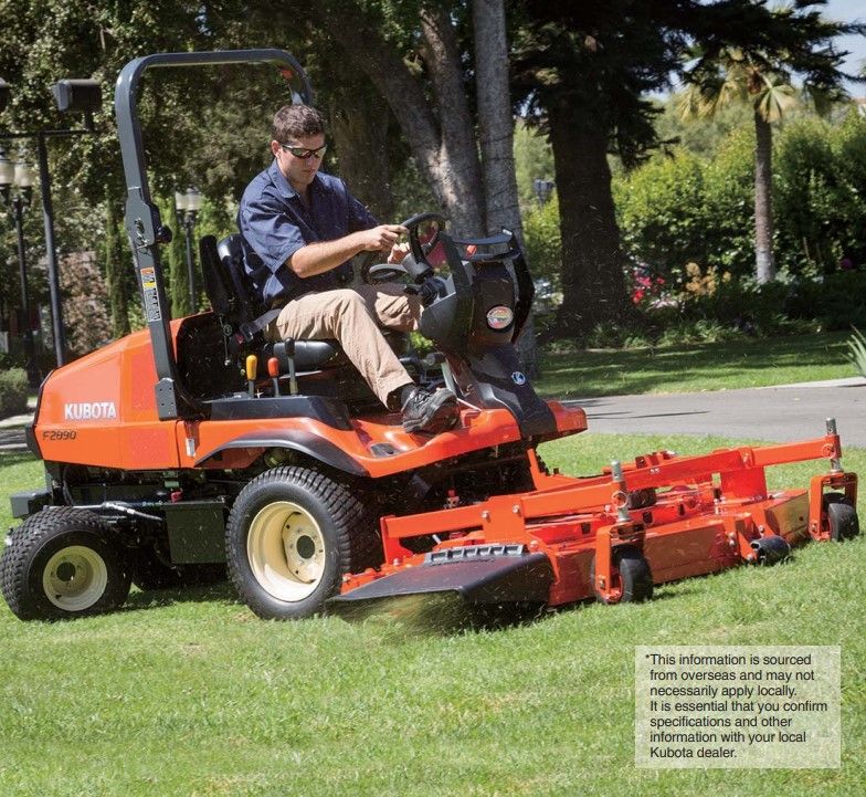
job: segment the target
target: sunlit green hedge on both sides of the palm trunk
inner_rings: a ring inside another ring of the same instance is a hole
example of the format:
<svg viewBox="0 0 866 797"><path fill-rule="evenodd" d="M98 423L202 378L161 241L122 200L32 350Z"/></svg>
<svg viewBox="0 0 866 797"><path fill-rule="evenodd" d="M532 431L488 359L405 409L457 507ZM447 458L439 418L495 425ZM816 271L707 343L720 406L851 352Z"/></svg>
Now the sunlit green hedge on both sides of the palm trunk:
<svg viewBox="0 0 866 797"><path fill-rule="evenodd" d="M629 255L676 283L687 263L749 280L754 268L753 133L710 158L658 155L615 182ZM775 253L783 279L866 268L866 122L801 118L777 132Z"/></svg>

